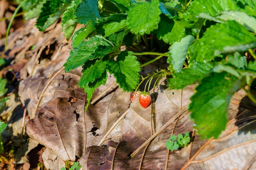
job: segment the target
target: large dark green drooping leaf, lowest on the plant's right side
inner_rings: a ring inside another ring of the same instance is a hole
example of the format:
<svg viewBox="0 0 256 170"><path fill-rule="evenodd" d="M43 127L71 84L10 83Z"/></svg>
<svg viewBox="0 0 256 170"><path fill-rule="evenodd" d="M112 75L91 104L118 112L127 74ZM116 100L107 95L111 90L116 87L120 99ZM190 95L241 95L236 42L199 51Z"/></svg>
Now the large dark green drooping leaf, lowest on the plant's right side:
<svg viewBox="0 0 256 170"><path fill-rule="evenodd" d="M211 73L196 87L189 110L201 138L217 138L228 121L229 102L237 89L245 86L245 78L227 72Z"/></svg>

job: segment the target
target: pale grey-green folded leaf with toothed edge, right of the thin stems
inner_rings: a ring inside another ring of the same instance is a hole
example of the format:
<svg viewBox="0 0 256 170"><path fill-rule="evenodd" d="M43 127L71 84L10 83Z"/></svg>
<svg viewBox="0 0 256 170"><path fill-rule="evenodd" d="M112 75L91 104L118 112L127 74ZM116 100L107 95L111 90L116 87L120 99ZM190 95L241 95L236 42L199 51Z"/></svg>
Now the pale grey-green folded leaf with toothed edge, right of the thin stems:
<svg viewBox="0 0 256 170"><path fill-rule="evenodd" d="M180 42L175 42L169 47L169 53L171 55L168 57L167 62L171 62L173 64L173 69L176 72L180 72L182 69L183 63L186 59L187 50L194 40L195 38L192 35L187 35L182 38Z"/></svg>

